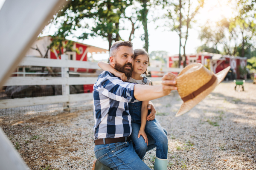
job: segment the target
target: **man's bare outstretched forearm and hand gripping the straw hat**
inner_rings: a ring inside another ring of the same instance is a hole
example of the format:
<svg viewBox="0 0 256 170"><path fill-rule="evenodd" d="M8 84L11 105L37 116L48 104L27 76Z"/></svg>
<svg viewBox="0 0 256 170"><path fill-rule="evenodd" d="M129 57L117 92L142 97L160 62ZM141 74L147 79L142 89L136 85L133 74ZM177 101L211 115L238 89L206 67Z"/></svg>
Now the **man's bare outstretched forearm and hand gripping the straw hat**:
<svg viewBox="0 0 256 170"><path fill-rule="evenodd" d="M148 101L158 99L170 94L172 90L177 90L175 78L177 76L171 72L166 73L162 78L162 85L139 85L134 86L134 96L137 100Z"/></svg>

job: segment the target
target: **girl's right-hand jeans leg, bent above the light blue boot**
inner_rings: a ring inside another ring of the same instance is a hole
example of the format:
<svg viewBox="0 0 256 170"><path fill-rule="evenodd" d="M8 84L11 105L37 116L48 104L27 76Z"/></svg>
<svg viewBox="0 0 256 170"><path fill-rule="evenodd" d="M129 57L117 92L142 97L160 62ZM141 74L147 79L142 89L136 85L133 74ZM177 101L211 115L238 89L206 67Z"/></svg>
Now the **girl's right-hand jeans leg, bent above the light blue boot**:
<svg viewBox="0 0 256 170"><path fill-rule="evenodd" d="M148 141L151 140L149 136L154 139L154 145L157 146L157 158L167 159L168 138L157 119L147 121L145 133L148 135ZM148 145L151 146L151 143L148 143Z"/></svg>

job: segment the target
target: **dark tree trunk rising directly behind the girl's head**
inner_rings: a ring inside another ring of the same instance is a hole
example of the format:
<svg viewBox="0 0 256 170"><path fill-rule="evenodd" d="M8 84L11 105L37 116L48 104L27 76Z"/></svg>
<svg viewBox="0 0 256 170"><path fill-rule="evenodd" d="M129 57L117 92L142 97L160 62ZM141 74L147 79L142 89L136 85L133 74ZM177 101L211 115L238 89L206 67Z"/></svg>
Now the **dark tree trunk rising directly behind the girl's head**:
<svg viewBox="0 0 256 170"><path fill-rule="evenodd" d="M148 9L147 9L147 2L148 0L143 0L143 10L141 10L141 17L142 17L142 25L143 25L143 28L144 28L144 40L145 40L145 45L144 45L144 48L145 48L145 51L148 52L148 19L147 19L147 15L148 15Z"/></svg>

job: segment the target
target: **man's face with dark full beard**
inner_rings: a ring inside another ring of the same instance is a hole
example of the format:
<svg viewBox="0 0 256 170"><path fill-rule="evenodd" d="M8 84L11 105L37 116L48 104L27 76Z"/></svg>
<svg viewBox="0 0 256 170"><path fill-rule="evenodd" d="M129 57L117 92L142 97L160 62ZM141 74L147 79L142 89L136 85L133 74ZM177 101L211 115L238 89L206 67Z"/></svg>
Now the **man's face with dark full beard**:
<svg viewBox="0 0 256 170"><path fill-rule="evenodd" d="M131 47L120 46L116 52L114 68L131 77L133 70L134 50Z"/></svg>

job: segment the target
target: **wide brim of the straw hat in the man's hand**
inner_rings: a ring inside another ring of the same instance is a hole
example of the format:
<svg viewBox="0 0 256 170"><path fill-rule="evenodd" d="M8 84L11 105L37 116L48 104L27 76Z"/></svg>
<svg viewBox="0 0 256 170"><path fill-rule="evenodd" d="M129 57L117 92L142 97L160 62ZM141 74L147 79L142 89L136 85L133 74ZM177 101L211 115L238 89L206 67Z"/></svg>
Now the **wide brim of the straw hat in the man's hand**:
<svg viewBox="0 0 256 170"><path fill-rule="evenodd" d="M217 77L215 82L209 88L207 88L205 91L203 91L201 94L199 94L198 96L195 96L195 98L190 99L186 102L183 102L182 105L180 106L179 111L176 113L175 117L178 117L178 116L183 115L184 113L190 111L192 108L195 107L195 105L197 105L206 96L208 96L215 89L215 87L223 81L223 79L226 77L229 70L230 70L230 66L225 68L224 70L218 72L217 74L215 74L215 76Z"/></svg>

